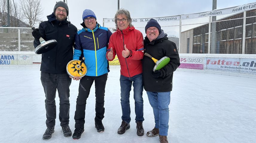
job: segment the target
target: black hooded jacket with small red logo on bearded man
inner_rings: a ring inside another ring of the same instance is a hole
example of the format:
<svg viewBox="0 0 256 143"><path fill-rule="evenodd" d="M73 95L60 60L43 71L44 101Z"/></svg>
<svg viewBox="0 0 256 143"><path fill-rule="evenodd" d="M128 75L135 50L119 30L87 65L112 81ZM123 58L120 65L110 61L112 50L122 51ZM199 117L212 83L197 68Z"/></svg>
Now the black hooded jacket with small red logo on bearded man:
<svg viewBox="0 0 256 143"><path fill-rule="evenodd" d="M74 37L77 28L65 19L58 21L52 13L48 21L39 24L39 31L45 41L57 40L57 46L42 54L40 70L46 73L66 73L66 66L73 59ZM34 40L34 47L40 45L39 39Z"/></svg>

